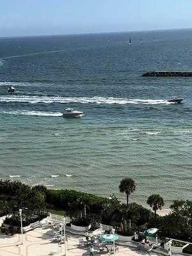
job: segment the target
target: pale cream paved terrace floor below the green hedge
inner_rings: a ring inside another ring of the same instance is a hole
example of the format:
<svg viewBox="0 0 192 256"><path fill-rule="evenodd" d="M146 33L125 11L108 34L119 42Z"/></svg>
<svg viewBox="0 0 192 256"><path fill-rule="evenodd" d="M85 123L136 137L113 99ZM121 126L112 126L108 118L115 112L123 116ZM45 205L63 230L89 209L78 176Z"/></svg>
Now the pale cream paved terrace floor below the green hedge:
<svg viewBox="0 0 192 256"><path fill-rule="evenodd" d="M47 255L65 255L65 244L52 242L54 237L52 228L36 228L24 234L24 244L21 244L21 235L6 236L0 234L0 256L47 256ZM83 236L71 235L67 241L67 256L90 255L90 246L79 246L79 238ZM128 246L118 245L116 256L157 256L158 253L145 252L138 248L129 248ZM94 246L94 250L97 250ZM97 256L113 255L112 253L94 252Z"/></svg>

